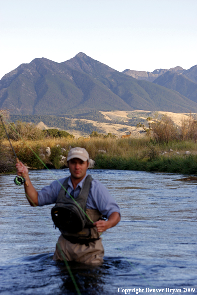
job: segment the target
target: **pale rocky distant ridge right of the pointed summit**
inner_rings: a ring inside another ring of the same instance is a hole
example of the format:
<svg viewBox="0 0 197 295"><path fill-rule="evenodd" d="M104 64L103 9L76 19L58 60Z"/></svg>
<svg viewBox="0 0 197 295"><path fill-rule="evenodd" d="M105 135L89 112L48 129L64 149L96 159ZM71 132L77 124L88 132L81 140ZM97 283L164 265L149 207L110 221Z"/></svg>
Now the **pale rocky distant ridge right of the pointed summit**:
<svg viewBox="0 0 197 295"><path fill-rule="evenodd" d="M146 71L134 71L130 69L124 70L122 73L129 75L137 80L145 80L148 82L153 82L155 79L160 77L162 74L171 71L171 72L177 72L177 73L183 73L184 69L182 67L175 67L167 69L155 69L153 72L146 72Z"/></svg>

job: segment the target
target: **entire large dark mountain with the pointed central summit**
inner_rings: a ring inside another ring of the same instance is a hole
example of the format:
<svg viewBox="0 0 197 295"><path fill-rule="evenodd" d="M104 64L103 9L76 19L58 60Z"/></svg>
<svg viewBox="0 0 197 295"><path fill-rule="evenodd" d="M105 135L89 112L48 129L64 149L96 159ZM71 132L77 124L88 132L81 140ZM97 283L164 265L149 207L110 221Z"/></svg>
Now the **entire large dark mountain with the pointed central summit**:
<svg viewBox="0 0 197 295"><path fill-rule="evenodd" d="M62 63L36 58L6 74L0 80L0 108L20 115L58 115L82 109L197 112L197 103L80 52Z"/></svg>

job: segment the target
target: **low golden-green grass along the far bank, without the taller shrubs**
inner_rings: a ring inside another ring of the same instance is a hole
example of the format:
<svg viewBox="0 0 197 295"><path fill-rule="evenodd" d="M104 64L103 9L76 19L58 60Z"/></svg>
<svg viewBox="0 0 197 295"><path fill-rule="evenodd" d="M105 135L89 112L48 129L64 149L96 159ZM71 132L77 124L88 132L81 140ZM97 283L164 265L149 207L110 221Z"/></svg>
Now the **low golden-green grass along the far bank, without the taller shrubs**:
<svg viewBox="0 0 197 295"><path fill-rule="evenodd" d="M69 148L86 148L96 169L140 170L154 172L197 174L197 143L193 141L173 141L156 143L149 137L139 139L91 138L76 140L72 138L45 138L37 141L13 141L18 158L29 167L44 168L36 155L45 153L43 162L49 167L65 167L60 163L60 156L67 157ZM3 142L9 147L8 141ZM59 145L59 147L57 147ZM30 147L30 148L29 148ZM51 155L46 156L46 148L51 148ZM65 148L65 152L61 152ZM173 151L169 151L169 150ZM106 151L102 153L101 150ZM190 151L190 155L185 155ZM166 153L164 153L166 152ZM179 154L177 154L179 153ZM163 154L163 155L162 155ZM11 157L11 150L10 150Z"/></svg>

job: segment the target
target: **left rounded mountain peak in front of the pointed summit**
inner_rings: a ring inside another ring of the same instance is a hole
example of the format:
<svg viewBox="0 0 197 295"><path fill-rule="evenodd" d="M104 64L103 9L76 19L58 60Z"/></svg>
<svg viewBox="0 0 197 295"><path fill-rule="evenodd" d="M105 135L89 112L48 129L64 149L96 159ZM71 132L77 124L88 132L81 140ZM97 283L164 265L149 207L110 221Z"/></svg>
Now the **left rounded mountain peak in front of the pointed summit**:
<svg viewBox="0 0 197 295"><path fill-rule="evenodd" d="M0 81L0 108L13 114L60 114L76 107L131 110L90 75L46 58L22 64Z"/></svg>

